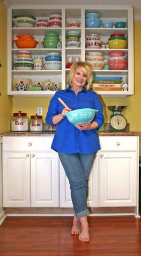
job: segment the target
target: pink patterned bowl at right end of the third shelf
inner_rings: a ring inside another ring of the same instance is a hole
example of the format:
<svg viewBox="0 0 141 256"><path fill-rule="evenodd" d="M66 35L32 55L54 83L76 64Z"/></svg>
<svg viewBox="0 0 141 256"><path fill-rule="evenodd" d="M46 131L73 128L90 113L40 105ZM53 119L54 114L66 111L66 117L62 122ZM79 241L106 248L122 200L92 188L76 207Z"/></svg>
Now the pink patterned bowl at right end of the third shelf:
<svg viewBox="0 0 141 256"><path fill-rule="evenodd" d="M114 59L113 61L111 61L109 59L108 64L109 64L110 70L124 70L127 68L128 61L122 60L122 59L117 59L117 60Z"/></svg>

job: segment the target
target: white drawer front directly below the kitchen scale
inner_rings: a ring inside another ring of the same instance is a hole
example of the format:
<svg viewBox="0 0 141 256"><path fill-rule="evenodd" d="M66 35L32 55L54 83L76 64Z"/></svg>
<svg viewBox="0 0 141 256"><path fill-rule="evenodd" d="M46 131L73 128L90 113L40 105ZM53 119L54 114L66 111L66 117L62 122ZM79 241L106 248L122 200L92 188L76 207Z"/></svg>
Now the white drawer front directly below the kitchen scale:
<svg viewBox="0 0 141 256"><path fill-rule="evenodd" d="M101 136L101 150L137 150L136 136Z"/></svg>

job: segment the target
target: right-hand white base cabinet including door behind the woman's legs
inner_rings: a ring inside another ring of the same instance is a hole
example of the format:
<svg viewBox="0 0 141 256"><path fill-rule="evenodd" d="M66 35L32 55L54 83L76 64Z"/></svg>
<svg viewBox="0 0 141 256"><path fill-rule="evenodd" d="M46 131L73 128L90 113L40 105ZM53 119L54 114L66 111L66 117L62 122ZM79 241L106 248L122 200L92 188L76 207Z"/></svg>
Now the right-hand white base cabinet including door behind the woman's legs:
<svg viewBox="0 0 141 256"><path fill-rule="evenodd" d="M138 147L136 136L100 136L101 150L90 176L90 207L138 207ZM72 207L68 178L60 168L60 206Z"/></svg>

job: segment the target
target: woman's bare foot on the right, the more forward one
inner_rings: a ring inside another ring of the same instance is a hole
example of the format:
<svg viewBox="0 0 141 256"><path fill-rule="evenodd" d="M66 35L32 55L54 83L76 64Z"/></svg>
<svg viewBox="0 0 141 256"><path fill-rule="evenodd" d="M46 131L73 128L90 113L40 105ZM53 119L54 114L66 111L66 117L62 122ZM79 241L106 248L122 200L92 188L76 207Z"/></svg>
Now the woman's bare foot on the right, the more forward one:
<svg viewBox="0 0 141 256"><path fill-rule="evenodd" d="M79 234L78 239L81 240L82 242L90 242L87 216L79 218L79 221L81 223L81 233Z"/></svg>

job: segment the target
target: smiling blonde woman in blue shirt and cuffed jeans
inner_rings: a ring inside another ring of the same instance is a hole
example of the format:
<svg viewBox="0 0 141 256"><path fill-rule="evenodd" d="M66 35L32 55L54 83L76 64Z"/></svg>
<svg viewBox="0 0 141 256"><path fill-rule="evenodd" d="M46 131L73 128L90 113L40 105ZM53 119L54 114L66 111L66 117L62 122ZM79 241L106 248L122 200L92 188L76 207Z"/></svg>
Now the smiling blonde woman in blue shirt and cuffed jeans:
<svg viewBox="0 0 141 256"><path fill-rule="evenodd" d="M85 62L73 63L69 76L69 87L58 91L51 99L46 121L57 125L51 148L59 154L60 161L69 179L73 210L75 212L71 234L78 234L79 240L90 241L87 215L88 177L100 149L98 130L103 122L103 107L96 93L89 90L93 73ZM69 108L64 108L58 98ZM98 109L93 121L86 124L71 124L64 113L81 108Z"/></svg>

